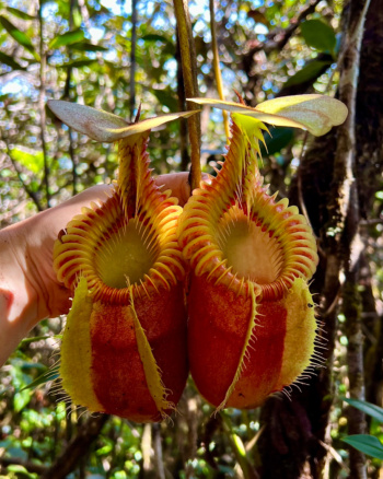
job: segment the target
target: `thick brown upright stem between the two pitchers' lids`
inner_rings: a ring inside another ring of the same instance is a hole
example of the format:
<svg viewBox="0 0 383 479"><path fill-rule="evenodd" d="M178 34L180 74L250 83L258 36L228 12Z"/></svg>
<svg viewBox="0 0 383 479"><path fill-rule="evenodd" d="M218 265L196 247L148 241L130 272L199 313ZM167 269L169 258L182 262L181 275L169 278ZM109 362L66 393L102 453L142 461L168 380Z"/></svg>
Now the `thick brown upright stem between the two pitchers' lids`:
<svg viewBox="0 0 383 479"><path fill-rule="evenodd" d="M185 94L187 98L198 96L197 82L197 59L192 33L192 23L186 0L173 0L174 11L177 20L177 32L179 38L179 49L182 67L184 72ZM188 109L199 109L193 102L186 103ZM190 183L192 190L199 188L201 179L200 170L200 116L193 115L187 120L189 129L189 139L192 145L192 172Z"/></svg>

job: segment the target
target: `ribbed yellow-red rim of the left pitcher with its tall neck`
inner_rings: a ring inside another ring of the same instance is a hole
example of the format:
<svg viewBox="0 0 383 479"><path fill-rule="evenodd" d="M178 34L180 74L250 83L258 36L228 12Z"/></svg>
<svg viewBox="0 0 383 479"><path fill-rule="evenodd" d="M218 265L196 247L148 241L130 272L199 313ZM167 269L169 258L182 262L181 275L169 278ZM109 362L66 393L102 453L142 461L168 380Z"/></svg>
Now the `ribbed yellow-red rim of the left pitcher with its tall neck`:
<svg viewBox="0 0 383 479"><path fill-rule="evenodd" d="M176 238L182 208L171 191L154 185L146 152L148 135L119 141L119 177L109 197L83 208L55 245L59 281L73 289L78 278L85 277L94 301L127 305L129 285L134 285L135 297L150 297L161 288L170 290L185 276ZM124 259L129 241L137 248L132 278L124 270L124 261L131 259Z"/></svg>

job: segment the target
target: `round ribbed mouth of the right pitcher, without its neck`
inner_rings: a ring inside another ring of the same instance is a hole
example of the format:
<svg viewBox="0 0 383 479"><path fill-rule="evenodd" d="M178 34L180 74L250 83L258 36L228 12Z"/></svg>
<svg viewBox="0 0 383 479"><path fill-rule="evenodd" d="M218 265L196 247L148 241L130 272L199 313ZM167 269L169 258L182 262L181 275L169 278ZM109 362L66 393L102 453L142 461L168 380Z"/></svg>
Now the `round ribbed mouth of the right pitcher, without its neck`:
<svg viewBox="0 0 383 479"><path fill-rule="evenodd" d="M276 203L259 189L259 213L253 209L248 214L246 206L235 203L214 224L209 221L209 190L202 192L189 200L179 235L197 276L207 273L237 294L247 295L251 287L260 300L281 299L297 278L311 278L317 264L315 240L295 207L287 207L286 200Z"/></svg>

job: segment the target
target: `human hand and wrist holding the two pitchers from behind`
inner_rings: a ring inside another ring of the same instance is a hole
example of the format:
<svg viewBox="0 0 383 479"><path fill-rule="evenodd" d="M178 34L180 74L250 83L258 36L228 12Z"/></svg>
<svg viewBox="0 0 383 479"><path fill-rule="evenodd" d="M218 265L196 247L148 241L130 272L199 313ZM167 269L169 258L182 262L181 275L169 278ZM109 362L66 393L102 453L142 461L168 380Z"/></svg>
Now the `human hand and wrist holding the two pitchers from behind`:
<svg viewBox="0 0 383 479"><path fill-rule="evenodd" d="M190 196L188 173L155 178L184 206ZM106 198L111 185L97 185L63 203L0 231L0 365L40 319L68 313L71 292L53 268L54 244L68 222L91 201Z"/></svg>

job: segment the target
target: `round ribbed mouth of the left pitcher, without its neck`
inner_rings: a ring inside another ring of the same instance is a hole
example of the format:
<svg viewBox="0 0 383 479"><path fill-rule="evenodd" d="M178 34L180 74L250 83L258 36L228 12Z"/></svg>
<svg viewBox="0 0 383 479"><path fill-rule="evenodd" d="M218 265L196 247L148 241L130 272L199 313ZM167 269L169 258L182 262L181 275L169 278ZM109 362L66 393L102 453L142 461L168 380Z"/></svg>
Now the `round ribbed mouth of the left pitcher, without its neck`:
<svg viewBox="0 0 383 479"><path fill-rule="evenodd" d="M105 203L83 208L55 246L59 281L73 289L84 276L94 300L128 304L130 285L139 296L150 297L182 280L175 237L181 208L170 201L165 210L163 218L152 220L141 212L128 220L117 188Z"/></svg>

